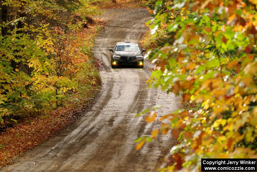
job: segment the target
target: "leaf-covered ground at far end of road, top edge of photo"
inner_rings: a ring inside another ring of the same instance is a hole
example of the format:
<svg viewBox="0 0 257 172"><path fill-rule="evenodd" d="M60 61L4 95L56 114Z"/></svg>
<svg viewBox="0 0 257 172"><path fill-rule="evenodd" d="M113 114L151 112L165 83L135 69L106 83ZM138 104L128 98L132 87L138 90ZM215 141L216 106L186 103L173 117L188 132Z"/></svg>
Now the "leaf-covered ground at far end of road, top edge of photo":
<svg viewBox="0 0 257 172"><path fill-rule="evenodd" d="M101 9L108 8L146 8L147 0L105 0L97 3L97 6Z"/></svg>

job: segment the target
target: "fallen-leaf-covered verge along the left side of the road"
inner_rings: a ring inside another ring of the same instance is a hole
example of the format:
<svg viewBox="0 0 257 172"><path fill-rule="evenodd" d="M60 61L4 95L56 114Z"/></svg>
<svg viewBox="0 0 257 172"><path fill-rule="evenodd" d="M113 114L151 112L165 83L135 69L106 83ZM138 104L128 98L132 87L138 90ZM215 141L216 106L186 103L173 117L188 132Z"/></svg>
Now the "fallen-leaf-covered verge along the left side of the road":
<svg viewBox="0 0 257 172"><path fill-rule="evenodd" d="M76 39L83 39L80 50L89 56L89 60L83 64L85 70L81 70L77 82L78 88L67 94L67 99L62 107L39 116L21 118L14 126L0 133L0 169L22 156L51 137L57 135L63 128L73 123L78 116L88 110L94 103L101 89L101 78L97 61L91 48L94 39L104 28L106 23L96 19L89 28L83 29ZM83 35L83 36L82 36Z"/></svg>

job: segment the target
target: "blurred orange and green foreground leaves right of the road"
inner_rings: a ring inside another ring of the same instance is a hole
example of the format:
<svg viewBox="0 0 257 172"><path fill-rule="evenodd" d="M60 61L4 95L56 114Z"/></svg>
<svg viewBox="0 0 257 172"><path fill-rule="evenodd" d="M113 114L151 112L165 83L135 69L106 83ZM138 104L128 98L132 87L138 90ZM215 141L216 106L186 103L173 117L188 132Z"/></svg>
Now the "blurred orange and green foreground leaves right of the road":
<svg viewBox="0 0 257 172"><path fill-rule="evenodd" d="M162 124L136 140L137 149L171 132L179 144L162 171L200 171L201 158L256 158L257 2L165 2L155 3L148 24L152 34L174 33L174 41L148 52L156 64L149 83L194 106L165 115L145 111L147 122L159 116Z"/></svg>

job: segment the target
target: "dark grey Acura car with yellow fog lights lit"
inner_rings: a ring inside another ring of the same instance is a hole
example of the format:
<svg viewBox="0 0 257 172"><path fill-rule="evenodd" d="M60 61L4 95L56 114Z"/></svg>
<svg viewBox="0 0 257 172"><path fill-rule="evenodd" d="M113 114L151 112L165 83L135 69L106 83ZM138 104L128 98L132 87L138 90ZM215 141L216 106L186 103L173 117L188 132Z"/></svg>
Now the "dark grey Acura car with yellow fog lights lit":
<svg viewBox="0 0 257 172"><path fill-rule="evenodd" d="M117 42L111 51L111 66L112 68L120 66L137 66L144 67L143 52L137 42Z"/></svg>

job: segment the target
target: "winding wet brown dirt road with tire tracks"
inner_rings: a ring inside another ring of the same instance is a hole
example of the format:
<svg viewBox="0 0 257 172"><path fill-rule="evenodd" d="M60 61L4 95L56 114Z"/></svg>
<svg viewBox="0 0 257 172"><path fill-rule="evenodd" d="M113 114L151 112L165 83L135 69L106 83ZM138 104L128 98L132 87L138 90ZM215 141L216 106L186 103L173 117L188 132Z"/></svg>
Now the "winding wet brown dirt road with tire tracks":
<svg viewBox="0 0 257 172"><path fill-rule="evenodd" d="M110 52L118 41L138 41L150 19L146 9L108 10L106 31L97 37L93 52L104 63L100 71L102 91L92 110L58 136L27 152L24 157L2 171L24 172L131 172L157 171L160 158L174 140L159 136L135 151L135 140L150 135L158 122L148 124L143 117L134 117L155 104L162 104L158 114L178 108L179 98L159 89L146 89L145 81L153 65L147 60L143 69L111 69Z"/></svg>

